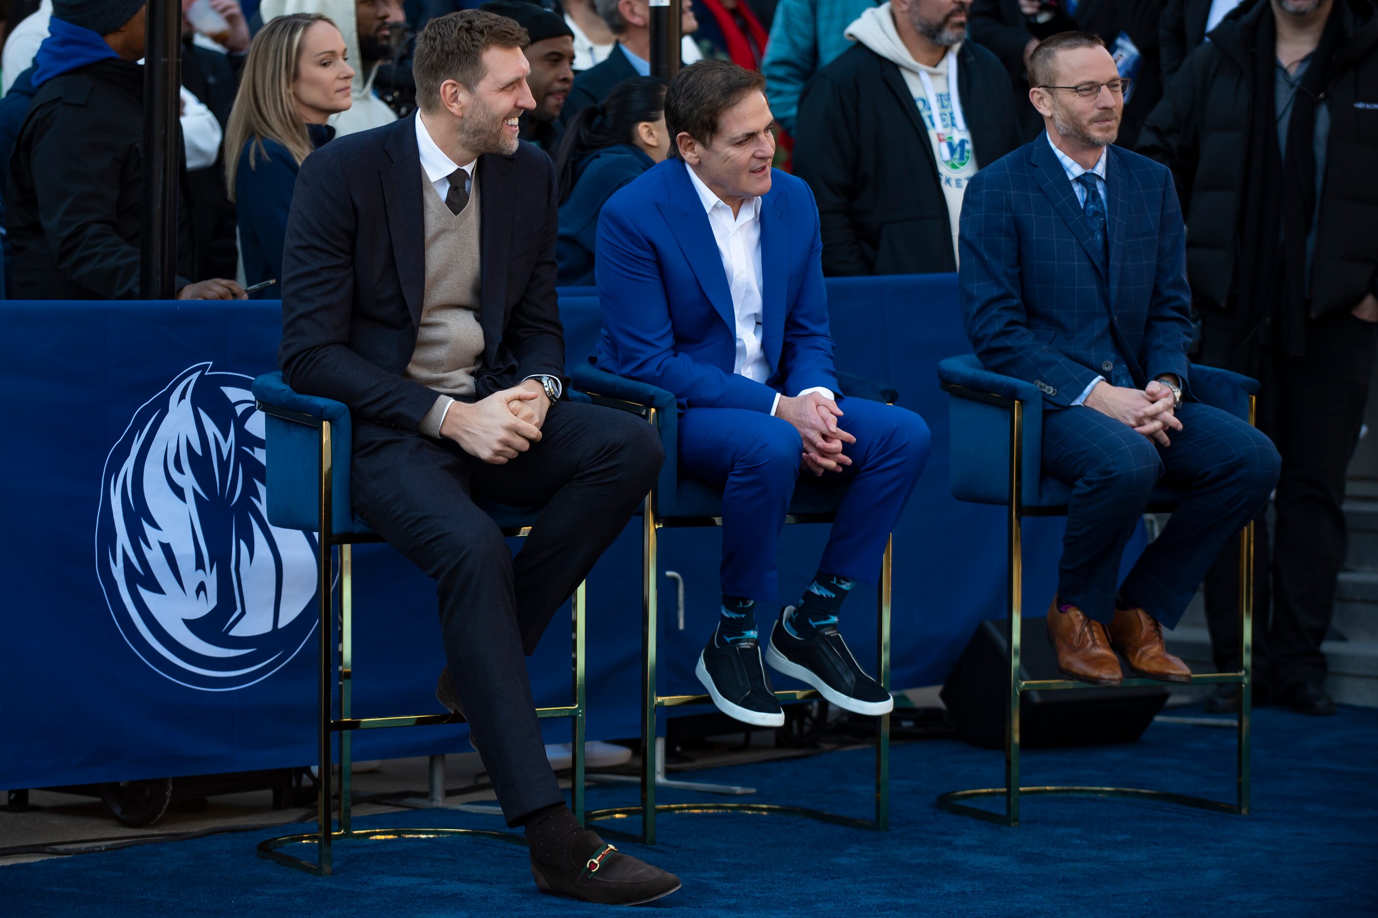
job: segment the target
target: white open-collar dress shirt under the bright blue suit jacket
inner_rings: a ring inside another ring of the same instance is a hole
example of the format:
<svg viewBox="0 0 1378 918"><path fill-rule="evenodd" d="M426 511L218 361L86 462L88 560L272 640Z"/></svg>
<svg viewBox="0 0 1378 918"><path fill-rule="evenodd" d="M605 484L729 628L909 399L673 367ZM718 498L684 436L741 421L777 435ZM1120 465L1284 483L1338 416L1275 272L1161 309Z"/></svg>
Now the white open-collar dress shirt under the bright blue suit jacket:
<svg viewBox="0 0 1378 918"><path fill-rule="evenodd" d="M718 244L718 257L722 259L722 270L728 275L728 289L732 292L732 311L736 317L733 333L737 339L737 355L733 359L732 372L745 376L748 380L765 383L770 378L770 362L766 361L762 347L762 330L765 318L765 301L761 296L761 198L745 198L732 215L732 208L708 189L688 164L689 180L693 183L703 209L708 213L708 226L712 227L712 238ZM799 395L817 392L834 398L832 389L816 385L803 389ZM770 405L770 414L780 407L780 394L776 394Z"/></svg>

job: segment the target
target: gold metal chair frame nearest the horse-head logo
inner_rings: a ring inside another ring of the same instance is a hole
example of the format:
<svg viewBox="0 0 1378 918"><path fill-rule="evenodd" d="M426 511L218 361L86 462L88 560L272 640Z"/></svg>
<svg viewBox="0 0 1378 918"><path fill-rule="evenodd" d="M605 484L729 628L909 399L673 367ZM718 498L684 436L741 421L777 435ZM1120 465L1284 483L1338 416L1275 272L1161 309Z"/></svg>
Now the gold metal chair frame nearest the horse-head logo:
<svg viewBox="0 0 1378 918"><path fill-rule="evenodd" d="M278 835L266 838L258 844L258 856L285 867L295 867L310 874L328 877L332 871L332 845L343 841L390 841L394 838L442 838L452 835L481 835L484 838L497 838L502 841L525 845L526 840L515 833L488 829L353 829L351 822L351 790L350 790L350 746L353 731L380 729L389 727L423 727L433 724L463 724L462 714L409 714L401 717L353 717L351 685L353 680L353 557L351 546L368 542L384 541L379 535L344 534L336 535L332 517L331 498L332 490L332 424L329 421L292 412L274 405L258 403L258 409L265 414L295 421L320 431L320 579L317 590L320 601L320 716L317 718L320 743L320 797L317 800L317 824L314 833L294 835ZM503 535L521 537L531 533L529 526L521 529L504 529ZM332 684L331 669L335 666L335 644L332 643L332 626L335 612L333 567L335 548L340 549L340 718L332 717ZM580 584L570 600L572 618L572 691L573 703L558 707L537 707L537 717L569 717L572 724L573 745L570 754L572 783L570 798L575 819L583 820L584 812L584 584ZM339 830L335 831L331 823L331 784L333 775L331 771L331 736L339 734L340 742L340 800L339 800ZM314 844L317 845L316 862L295 857L281 849L288 845Z"/></svg>

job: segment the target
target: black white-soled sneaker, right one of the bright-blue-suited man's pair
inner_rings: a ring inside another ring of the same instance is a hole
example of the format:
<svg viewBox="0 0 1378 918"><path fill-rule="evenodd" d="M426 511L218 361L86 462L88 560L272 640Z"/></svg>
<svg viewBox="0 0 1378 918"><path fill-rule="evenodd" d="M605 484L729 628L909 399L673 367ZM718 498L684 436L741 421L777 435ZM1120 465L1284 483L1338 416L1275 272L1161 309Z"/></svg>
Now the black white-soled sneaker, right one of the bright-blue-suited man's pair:
<svg viewBox="0 0 1378 918"><path fill-rule="evenodd" d="M785 615L792 610L787 606L770 629L770 645L766 648L770 668L813 685L842 710L889 714L894 709L894 698L857 665L836 625L828 622L813 637L799 640L784 625Z"/></svg>

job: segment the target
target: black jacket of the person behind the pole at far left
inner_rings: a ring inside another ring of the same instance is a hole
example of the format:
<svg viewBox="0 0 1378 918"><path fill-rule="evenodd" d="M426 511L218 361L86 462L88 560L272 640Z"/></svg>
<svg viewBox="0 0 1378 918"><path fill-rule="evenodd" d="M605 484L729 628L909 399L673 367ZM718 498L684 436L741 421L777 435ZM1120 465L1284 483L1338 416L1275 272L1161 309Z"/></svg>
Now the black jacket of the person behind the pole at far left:
<svg viewBox="0 0 1378 918"><path fill-rule="evenodd" d="M6 191L14 299L139 296L142 140L138 63L101 61L39 88L15 142ZM178 288L193 274L186 171L179 168Z"/></svg>

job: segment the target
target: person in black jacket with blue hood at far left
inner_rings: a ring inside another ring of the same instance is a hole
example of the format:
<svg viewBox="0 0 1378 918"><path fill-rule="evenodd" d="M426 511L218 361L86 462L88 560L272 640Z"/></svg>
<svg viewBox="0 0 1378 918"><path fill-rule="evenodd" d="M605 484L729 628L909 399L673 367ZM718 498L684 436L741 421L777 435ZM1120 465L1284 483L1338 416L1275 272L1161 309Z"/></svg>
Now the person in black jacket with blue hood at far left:
<svg viewBox="0 0 1378 918"><path fill-rule="evenodd" d="M37 94L15 142L6 215L10 292L23 300L139 295L143 222L145 0L54 0L34 58ZM171 165L186 178L185 162ZM185 189L178 201L182 300L244 299L234 281L193 284Z"/></svg>

